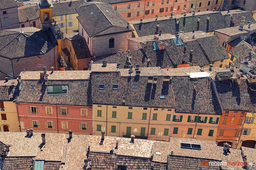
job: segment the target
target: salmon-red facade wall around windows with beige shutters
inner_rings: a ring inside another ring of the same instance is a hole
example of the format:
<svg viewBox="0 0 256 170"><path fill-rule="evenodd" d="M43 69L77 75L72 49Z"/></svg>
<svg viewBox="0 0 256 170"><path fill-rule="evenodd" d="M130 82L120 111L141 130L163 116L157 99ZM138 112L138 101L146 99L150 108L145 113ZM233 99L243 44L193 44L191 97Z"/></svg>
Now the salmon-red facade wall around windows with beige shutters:
<svg viewBox="0 0 256 170"><path fill-rule="evenodd" d="M39 107L39 113L28 113L29 106ZM52 115L46 114L45 107L52 107ZM69 115L59 115L60 107L68 108ZM81 108L87 109L87 116L81 116ZM36 131L68 132L69 129L72 129L74 133L92 133L92 109L90 107L20 103L18 111L21 130L30 129L30 121L36 120L41 124L41 128L34 128ZM45 128L46 121L55 122L55 129ZM61 122L68 122L68 129L62 129ZM79 123L89 123L89 130L80 130Z"/></svg>

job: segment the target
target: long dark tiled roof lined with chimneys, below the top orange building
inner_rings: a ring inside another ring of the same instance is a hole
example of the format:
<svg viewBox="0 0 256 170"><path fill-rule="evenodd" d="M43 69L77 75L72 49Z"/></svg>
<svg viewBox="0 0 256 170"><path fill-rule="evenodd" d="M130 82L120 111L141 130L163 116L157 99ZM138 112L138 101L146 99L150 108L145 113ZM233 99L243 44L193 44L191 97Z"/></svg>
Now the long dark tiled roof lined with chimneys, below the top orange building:
<svg viewBox="0 0 256 170"><path fill-rule="evenodd" d="M209 21L207 21L207 16L210 15ZM200 16L199 27L197 27L197 18ZM220 12L213 11L203 11L196 12L193 16L192 13L187 13L184 17L182 15L176 15L179 18L179 24L176 23L175 18L159 17L157 20L155 18L144 19L142 23L140 21L131 21L139 37L146 35L159 34L159 30L162 33L170 33L175 35L175 32L183 31L185 33L195 31L212 32L216 29L226 28L227 23ZM159 23L159 27L156 24Z"/></svg>

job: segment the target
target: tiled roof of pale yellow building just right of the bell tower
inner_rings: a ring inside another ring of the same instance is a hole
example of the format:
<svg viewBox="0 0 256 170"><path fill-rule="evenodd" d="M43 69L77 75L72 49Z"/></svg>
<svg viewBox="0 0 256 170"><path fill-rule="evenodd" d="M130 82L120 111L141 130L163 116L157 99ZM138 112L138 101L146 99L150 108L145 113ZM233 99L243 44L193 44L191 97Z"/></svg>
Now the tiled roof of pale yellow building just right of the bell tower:
<svg viewBox="0 0 256 170"><path fill-rule="evenodd" d="M75 14L76 8L83 4L84 0L68 0L52 3L52 16Z"/></svg>

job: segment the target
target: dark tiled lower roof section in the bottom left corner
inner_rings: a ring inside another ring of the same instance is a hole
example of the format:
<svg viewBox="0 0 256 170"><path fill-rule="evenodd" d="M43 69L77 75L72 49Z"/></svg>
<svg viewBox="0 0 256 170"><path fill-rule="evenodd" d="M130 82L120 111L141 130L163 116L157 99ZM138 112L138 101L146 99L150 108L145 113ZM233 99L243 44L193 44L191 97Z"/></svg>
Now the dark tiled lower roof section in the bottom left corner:
<svg viewBox="0 0 256 170"><path fill-rule="evenodd" d="M29 170L33 169L33 156L5 157L2 170Z"/></svg>

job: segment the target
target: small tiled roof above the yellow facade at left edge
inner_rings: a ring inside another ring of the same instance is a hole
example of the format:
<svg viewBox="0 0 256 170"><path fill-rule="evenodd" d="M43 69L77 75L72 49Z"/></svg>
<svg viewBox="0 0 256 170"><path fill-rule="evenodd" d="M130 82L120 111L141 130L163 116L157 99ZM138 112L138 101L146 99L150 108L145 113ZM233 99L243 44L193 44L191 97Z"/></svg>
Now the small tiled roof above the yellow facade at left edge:
<svg viewBox="0 0 256 170"><path fill-rule="evenodd" d="M0 81L0 101L12 101L12 94L17 85L17 80Z"/></svg>

